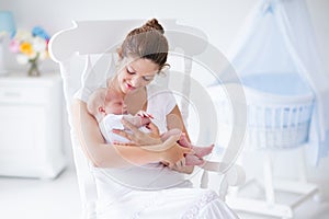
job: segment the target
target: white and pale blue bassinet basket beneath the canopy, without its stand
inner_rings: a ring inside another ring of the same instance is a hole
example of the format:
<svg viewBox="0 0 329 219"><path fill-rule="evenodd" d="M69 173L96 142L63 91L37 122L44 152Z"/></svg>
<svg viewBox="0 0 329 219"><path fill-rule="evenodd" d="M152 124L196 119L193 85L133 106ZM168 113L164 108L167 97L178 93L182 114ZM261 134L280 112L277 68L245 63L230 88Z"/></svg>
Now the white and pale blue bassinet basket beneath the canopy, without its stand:
<svg viewBox="0 0 329 219"><path fill-rule="evenodd" d="M308 140L314 94L297 73L242 78L247 99L247 145L288 149Z"/></svg>

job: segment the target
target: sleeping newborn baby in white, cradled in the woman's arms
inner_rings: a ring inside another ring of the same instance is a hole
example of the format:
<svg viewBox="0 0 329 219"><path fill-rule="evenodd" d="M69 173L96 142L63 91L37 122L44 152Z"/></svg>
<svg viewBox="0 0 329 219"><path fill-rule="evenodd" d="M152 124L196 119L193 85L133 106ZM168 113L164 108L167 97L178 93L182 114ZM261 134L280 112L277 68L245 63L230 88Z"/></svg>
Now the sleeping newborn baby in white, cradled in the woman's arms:
<svg viewBox="0 0 329 219"><path fill-rule="evenodd" d="M121 119L124 118L138 127L143 131L148 130L148 124L152 116L146 112L138 112L135 116L127 114L127 108L122 96L113 89L98 89L89 97L87 108L91 115L95 117L99 123L100 130L106 142L128 142L122 136L112 131L112 129L124 129ZM192 148L194 154L185 155L185 165L201 165L204 163L203 157L213 151L214 146L195 147L192 146L186 136L181 134L179 129L171 129L161 135L161 140L167 140L172 135L180 135L178 143L182 147Z"/></svg>

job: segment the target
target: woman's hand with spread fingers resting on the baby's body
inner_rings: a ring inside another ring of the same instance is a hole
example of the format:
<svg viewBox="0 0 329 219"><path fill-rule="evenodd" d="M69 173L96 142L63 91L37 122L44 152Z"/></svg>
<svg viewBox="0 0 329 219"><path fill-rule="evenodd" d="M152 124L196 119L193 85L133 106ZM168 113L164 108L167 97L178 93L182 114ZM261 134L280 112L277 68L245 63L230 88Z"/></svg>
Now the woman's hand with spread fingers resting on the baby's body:
<svg viewBox="0 0 329 219"><path fill-rule="evenodd" d="M126 132L125 130L114 129L113 132L126 138L129 140L127 143L114 142L115 145L124 146L151 146L162 143L158 127L150 123L147 128L150 132L140 131L136 126L126 119L122 119L122 124L125 128L132 130L132 134Z"/></svg>

